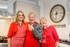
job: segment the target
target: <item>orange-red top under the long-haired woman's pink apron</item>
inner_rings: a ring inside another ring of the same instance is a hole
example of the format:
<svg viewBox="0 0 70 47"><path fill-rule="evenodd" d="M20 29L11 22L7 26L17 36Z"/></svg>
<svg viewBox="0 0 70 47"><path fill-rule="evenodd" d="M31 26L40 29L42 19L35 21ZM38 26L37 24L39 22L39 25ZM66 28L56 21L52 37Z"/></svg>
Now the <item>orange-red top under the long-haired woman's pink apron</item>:
<svg viewBox="0 0 70 47"><path fill-rule="evenodd" d="M26 24L23 23L25 25L25 28L26 28ZM12 22L10 24L10 28L9 28L9 31L8 31L8 38L11 38L12 36L14 36L16 34L16 32L18 31L18 23L16 22ZM26 32L24 32L24 36L26 35Z"/></svg>

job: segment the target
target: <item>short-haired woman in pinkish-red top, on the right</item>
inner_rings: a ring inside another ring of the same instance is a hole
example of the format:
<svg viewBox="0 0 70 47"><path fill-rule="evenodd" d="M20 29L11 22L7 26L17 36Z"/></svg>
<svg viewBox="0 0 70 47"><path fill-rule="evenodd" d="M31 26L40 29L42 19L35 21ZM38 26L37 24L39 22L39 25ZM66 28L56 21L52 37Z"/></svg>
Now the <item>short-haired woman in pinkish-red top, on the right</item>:
<svg viewBox="0 0 70 47"><path fill-rule="evenodd" d="M42 47L59 47L59 37L54 26L48 26L44 17L40 19L40 24L43 26Z"/></svg>

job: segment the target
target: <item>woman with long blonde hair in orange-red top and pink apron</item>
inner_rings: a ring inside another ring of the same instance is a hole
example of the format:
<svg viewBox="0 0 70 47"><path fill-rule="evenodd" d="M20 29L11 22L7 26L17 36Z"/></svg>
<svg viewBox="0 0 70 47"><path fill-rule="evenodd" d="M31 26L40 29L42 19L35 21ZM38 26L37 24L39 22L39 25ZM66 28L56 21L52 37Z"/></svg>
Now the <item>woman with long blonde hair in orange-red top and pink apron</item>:
<svg viewBox="0 0 70 47"><path fill-rule="evenodd" d="M10 24L8 32L8 47L23 47L26 36L25 15L22 11L16 14L16 21Z"/></svg>

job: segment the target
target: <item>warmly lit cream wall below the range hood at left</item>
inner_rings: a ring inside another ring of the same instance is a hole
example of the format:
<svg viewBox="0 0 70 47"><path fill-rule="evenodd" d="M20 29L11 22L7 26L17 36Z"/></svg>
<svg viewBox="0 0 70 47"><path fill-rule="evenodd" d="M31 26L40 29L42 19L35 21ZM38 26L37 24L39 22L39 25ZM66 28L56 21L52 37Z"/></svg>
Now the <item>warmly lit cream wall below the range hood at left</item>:
<svg viewBox="0 0 70 47"><path fill-rule="evenodd" d="M7 36L11 19L0 18L0 36Z"/></svg>

